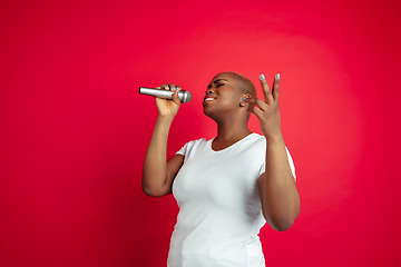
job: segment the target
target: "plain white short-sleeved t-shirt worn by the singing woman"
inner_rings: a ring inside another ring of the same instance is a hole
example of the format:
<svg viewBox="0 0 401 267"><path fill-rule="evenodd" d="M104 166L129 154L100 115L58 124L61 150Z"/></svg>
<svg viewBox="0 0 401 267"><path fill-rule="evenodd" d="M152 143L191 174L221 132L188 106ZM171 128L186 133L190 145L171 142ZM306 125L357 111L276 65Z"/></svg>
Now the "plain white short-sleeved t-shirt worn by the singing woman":
<svg viewBox="0 0 401 267"><path fill-rule="evenodd" d="M219 151L212 141L189 141L177 152L184 165L173 182L179 214L167 266L265 266L257 180L265 171L266 139L251 134ZM288 151L287 157L294 175Z"/></svg>

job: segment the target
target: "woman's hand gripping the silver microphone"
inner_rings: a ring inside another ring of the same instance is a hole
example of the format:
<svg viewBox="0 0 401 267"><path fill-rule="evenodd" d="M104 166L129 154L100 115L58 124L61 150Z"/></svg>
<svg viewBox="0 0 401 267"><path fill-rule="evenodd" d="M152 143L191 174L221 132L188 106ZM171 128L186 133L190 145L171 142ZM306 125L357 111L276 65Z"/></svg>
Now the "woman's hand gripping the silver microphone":
<svg viewBox="0 0 401 267"><path fill-rule="evenodd" d="M173 100L155 97L158 115L160 117L170 117L173 119L177 115L180 106L180 99L177 95L180 87L175 86L174 83L163 83L160 88L156 89L174 91Z"/></svg>

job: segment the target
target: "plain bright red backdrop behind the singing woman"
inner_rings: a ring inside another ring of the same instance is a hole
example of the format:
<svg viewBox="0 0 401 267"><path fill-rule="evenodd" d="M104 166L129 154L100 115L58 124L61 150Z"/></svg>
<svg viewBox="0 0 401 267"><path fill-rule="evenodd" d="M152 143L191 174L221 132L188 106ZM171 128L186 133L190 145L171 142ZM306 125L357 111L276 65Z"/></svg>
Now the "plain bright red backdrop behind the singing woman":
<svg viewBox="0 0 401 267"><path fill-rule="evenodd" d="M176 82L168 154L216 134L214 75L281 73L302 210L267 266L400 266L398 1L2 1L0 266L166 266L177 207L140 189ZM258 92L262 95L261 88ZM255 118L251 128L260 132Z"/></svg>

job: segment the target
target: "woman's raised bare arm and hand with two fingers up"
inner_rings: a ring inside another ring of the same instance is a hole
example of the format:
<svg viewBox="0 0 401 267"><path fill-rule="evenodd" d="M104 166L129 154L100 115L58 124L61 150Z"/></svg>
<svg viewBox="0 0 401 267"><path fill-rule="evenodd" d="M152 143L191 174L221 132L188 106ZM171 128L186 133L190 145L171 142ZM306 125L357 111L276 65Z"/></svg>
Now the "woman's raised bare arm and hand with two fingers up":
<svg viewBox="0 0 401 267"><path fill-rule="evenodd" d="M252 112L260 120L266 138L265 172L258 179L262 211L276 230L287 230L300 214L300 196L290 168L278 110L280 75L271 91L264 76L261 85L265 101L256 99Z"/></svg>

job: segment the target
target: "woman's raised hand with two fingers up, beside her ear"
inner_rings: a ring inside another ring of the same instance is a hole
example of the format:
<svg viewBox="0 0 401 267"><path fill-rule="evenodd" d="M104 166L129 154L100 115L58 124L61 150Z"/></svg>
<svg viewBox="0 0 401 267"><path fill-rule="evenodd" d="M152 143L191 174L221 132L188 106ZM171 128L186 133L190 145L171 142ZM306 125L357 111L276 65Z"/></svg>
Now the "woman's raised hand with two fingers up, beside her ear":
<svg viewBox="0 0 401 267"><path fill-rule="evenodd" d="M252 112L257 117L262 134L266 139L283 138L278 110L280 75L274 77L272 91L268 88L264 75L260 76L260 80L265 100L263 101L260 98L248 99L247 102L254 103L248 109L248 112Z"/></svg>

